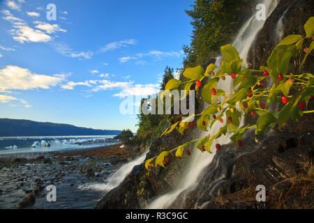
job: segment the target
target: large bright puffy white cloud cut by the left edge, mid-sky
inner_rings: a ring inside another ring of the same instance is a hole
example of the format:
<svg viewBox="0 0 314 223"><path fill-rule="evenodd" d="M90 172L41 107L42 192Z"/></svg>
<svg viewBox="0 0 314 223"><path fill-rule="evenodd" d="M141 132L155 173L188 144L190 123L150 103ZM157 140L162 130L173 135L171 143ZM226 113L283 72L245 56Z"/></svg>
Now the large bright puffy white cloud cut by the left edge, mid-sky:
<svg viewBox="0 0 314 223"><path fill-rule="evenodd" d="M50 89L63 81L63 77L38 75L26 68L6 66L0 70L0 90Z"/></svg>

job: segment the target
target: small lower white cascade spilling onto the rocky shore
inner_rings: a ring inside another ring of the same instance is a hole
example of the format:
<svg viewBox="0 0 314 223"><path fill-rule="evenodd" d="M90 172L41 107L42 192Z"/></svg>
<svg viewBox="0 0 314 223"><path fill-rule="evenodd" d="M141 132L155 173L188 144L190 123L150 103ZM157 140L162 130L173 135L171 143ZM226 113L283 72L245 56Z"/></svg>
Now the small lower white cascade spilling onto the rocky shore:
<svg viewBox="0 0 314 223"><path fill-rule="evenodd" d="M110 190L114 189L114 187L119 186L119 184L124 180L124 178L126 178L126 176L130 174L130 171L132 171L133 167L144 162L147 153L148 150L142 153L142 155L136 157L134 160L131 160L130 162L127 162L126 164L122 165L116 172L114 172L114 174L112 174L109 178L107 178L107 180L105 180L105 183L92 183L80 185L78 189L101 190L109 192Z"/></svg>

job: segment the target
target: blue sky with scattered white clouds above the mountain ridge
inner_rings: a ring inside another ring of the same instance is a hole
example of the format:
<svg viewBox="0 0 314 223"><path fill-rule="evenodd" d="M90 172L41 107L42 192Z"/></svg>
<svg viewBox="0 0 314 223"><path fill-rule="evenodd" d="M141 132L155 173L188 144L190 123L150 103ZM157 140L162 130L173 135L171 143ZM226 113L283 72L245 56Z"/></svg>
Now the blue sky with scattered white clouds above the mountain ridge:
<svg viewBox="0 0 314 223"><path fill-rule="evenodd" d="M54 3L57 20L47 20ZM136 131L127 95L181 68L190 0L0 1L0 118Z"/></svg>

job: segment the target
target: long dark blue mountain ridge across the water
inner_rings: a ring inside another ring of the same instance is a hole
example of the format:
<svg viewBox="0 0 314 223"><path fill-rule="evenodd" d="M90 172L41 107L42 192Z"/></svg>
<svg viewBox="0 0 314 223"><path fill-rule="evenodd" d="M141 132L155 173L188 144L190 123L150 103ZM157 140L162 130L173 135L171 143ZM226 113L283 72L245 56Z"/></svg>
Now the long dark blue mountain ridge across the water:
<svg viewBox="0 0 314 223"><path fill-rule="evenodd" d="M121 131L119 130L94 130L68 124L0 118L0 137L116 135L120 133Z"/></svg>

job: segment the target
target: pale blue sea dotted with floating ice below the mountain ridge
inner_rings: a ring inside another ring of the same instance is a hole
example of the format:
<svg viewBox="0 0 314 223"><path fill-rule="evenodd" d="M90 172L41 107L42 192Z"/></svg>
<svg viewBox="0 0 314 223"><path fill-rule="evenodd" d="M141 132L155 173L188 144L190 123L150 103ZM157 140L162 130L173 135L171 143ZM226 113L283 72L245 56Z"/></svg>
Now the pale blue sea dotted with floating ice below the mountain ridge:
<svg viewBox="0 0 314 223"><path fill-rule="evenodd" d="M114 135L62 137L0 137L0 154L65 151L116 144Z"/></svg>

